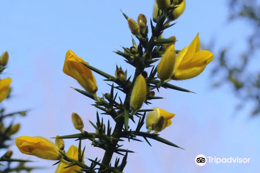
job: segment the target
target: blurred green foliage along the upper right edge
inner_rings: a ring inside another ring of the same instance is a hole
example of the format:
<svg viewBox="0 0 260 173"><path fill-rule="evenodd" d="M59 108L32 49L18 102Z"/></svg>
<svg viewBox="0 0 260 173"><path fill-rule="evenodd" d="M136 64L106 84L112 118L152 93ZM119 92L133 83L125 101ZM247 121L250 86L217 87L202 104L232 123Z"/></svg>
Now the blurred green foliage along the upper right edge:
<svg viewBox="0 0 260 173"><path fill-rule="evenodd" d="M232 90L240 100L236 110L252 104L250 116L260 115L260 70L251 70L250 65L259 63L260 48L260 0L228 0L229 24L242 21L252 30L246 42L246 50L239 56L233 57L229 54L226 46L214 52L214 59L217 62L212 70L212 77L216 74L224 74L220 79L215 80L213 87L220 87L223 84L230 84ZM214 44L208 47L212 49ZM232 47L234 48L234 47ZM231 62L232 61L232 62ZM218 75L219 76L219 75Z"/></svg>

